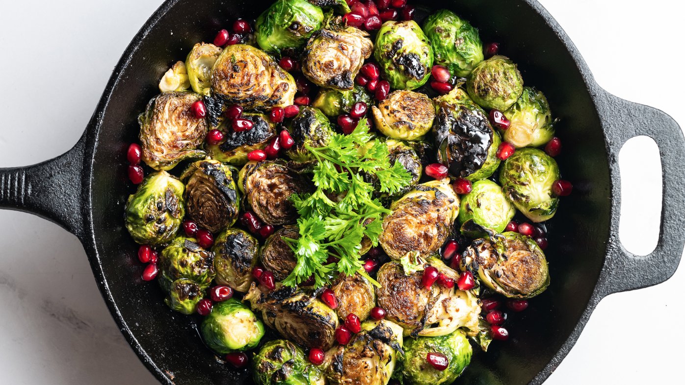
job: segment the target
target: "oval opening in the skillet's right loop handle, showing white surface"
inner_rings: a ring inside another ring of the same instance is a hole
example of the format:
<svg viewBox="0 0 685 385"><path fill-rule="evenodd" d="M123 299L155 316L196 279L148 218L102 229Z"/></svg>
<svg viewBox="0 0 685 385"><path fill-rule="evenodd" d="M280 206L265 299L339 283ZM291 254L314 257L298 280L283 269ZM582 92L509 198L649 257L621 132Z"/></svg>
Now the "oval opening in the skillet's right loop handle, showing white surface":
<svg viewBox="0 0 685 385"><path fill-rule="evenodd" d="M651 137L627 140L619 152L623 247L639 256L653 252L659 240L662 174L659 148Z"/></svg>

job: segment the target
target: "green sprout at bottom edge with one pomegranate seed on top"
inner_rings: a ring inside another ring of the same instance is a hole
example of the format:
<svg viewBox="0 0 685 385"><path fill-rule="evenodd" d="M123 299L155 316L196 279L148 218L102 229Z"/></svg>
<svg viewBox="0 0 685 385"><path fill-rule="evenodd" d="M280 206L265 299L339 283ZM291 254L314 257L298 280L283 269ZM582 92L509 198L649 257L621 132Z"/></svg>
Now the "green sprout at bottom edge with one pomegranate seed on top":
<svg viewBox="0 0 685 385"><path fill-rule="evenodd" d="M429 353L441 353L449 366L443 371L435 369L426 360ZM410 338L404 342L402 374L408 385L451 384L469 366L471 345L462 330L447 336Z"/></svg>

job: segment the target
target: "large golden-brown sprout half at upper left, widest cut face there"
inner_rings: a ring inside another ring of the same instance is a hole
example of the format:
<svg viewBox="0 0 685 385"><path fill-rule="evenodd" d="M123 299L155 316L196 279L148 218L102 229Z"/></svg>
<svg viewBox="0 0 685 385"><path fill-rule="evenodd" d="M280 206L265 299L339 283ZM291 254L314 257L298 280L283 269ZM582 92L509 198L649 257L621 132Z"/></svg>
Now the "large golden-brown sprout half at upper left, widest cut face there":
<svg viewBox="0 0 685 385"><path fill-rule="evenodd" d="M226 47L212 69L212 92L224 103L248 108L292 105L295 79L264 51L245 44Z"/></svg>

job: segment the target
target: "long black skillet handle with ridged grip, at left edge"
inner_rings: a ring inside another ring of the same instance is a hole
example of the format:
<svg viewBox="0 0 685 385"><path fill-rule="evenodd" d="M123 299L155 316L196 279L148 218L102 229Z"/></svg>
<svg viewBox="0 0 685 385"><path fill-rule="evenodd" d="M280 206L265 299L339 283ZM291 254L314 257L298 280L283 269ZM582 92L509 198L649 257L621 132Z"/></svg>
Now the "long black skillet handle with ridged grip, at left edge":
<svg viewBox="0 0 685 385"><path fill-rule="evenodd" d="M85 148L84 133L59 157L27 167L0 168L0 209L38 215L80 238Z"/></svg>

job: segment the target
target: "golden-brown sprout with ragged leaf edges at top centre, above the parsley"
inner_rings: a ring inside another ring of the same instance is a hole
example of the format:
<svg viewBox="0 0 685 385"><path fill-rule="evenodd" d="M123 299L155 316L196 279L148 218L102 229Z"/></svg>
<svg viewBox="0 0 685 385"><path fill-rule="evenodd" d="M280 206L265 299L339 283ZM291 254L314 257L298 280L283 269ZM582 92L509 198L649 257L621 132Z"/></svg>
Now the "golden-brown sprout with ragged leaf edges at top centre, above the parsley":
<svg viewBox="0 0 685 385"><path fill-rule="evenodd" d="M320 29L307 42L302 73L321 87L352 90L364 59L373 51L373 43L367 36L354 27L340 31Z"/></svg>

